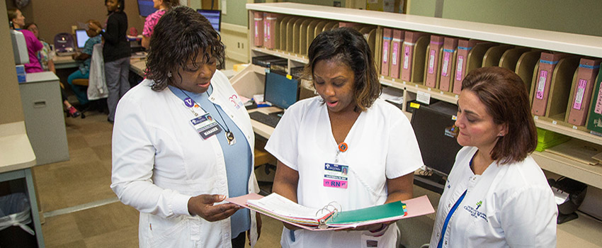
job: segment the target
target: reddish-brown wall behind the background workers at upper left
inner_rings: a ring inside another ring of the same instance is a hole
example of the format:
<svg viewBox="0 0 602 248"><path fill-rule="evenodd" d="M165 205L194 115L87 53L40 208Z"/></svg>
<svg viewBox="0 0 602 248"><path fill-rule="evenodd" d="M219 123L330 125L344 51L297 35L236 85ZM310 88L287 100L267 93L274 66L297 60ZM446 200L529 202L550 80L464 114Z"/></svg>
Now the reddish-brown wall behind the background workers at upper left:
<svg viewBox="0 0 602 248"><path fill-rule="evenodd" d="M14 6L13 0L5 0L7 6ZM142 33L144 18L138 14L136 0L125 0L127 24ZM23 8L25 22L35 22L40 28L40 38L52 43L57 33L71 33L71 26L95 19L106 22L107 10L103 0L30 0ZM8 18L6 18L8 20Z"/></svg>

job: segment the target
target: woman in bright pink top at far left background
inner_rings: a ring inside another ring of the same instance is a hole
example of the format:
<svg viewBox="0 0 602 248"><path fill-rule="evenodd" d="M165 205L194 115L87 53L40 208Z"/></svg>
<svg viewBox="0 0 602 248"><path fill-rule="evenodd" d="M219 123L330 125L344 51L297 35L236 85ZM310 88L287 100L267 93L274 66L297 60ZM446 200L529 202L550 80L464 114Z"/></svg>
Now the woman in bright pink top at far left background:
<svg viewBox="0 0 602 248"><path fill-rule="evenodd" d="M18 9L8 9L8 23L11 23L11 28L18 30L25 36L25 44L29 55L29 63L24 64L26 73L44 72L42 65L38 60L38 51L44 47L38 38L31 33L30 30L22 29L25 26L25 16Z"/></svg>

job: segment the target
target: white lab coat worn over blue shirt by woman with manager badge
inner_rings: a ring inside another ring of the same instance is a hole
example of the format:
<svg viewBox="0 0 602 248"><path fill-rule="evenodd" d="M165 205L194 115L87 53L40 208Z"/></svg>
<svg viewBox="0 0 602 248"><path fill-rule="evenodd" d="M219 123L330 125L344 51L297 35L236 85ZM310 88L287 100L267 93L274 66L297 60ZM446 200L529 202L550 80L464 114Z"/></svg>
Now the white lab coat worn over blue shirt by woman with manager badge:
<svg viewBox="0 0 602 248"><path fill-rule="evenodd" d="M231 247L230 219L208 222L188 213L188 199L228 194L225 154L215 135L203 140L193 114L169 88L152 91L150 80L120 99L113 128L111 188L120 201L140 210L140 247ZM249 114L228 79L216 71L210 101L222 107L242 130L251 151ZM232 155L232 154L228 154ZM259 192L253 164L249 192ZM257 240L251 212L251 239Z"/></svg>

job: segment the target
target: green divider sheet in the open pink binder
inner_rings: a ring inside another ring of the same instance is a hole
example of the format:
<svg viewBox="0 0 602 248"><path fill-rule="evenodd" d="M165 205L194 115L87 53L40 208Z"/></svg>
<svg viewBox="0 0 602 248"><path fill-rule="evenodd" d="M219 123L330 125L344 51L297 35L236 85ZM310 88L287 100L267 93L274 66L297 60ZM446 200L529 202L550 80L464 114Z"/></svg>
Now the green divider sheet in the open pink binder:
<svg viewBox="0 0 602 248"><path fill-rule="evenodd" d="M397 216L403 216L406 212L407 210L405 210L405 204L401 201L396 201L384 205L375 205L370 208L361 208L358 210L339 212L336 215L334 215L333 218L328 220L326 224L344 225L368 222L373 220L382 220Z"/></svg>

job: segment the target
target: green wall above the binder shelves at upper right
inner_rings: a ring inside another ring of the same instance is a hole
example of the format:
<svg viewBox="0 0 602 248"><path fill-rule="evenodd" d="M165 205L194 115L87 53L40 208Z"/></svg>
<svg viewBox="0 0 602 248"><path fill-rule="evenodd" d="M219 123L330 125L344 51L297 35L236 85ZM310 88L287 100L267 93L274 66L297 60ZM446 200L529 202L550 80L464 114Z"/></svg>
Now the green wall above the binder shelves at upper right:
<svg viewBox="0 0 602 248"><path fill-rule="evenodd" d="M602 36L599 0L414 0L409 13L434 16L437 1L443 18Z"/></svg>

